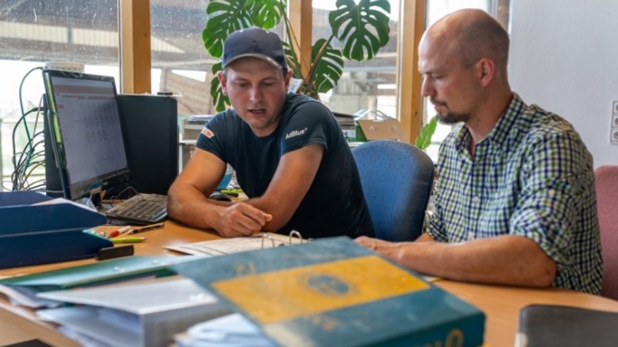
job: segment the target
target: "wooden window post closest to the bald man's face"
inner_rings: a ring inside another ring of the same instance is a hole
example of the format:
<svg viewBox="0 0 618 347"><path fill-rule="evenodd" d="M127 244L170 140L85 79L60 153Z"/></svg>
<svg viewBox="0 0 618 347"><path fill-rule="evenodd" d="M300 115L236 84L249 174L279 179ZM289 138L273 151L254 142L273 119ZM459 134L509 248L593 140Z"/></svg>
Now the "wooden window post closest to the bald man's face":
<svg viewBox="0 0 618 347"><path fill-rule="evenodd" d="M425 29L426 0L402 0L398 35L397 88L398 118L414 143L423 123L421 75L418 72L417 47Z"/></svg>

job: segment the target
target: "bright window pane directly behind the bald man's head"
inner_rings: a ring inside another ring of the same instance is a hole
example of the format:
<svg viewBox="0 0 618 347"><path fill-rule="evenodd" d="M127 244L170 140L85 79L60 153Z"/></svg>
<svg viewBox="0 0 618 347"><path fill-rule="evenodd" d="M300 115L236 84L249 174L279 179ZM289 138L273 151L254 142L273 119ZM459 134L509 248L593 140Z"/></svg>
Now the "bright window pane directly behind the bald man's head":
<svg viewBox="0 0 618 347"><path fill-rule="evenodd" d="M441 19L450 12L455 12L464 8L479 8L492 14L505 28L508 28L509 17L509 1L508 0L428 0L427 1L427 23L429 27L438 19ZM423 112L425 121L434 115L431 104L424 100ZM431 139L431 145L426 149L427 154L437 161L438 149L440 143L444 141L446 135L450 132L450 125L438 123L435 134Z"/></svg>

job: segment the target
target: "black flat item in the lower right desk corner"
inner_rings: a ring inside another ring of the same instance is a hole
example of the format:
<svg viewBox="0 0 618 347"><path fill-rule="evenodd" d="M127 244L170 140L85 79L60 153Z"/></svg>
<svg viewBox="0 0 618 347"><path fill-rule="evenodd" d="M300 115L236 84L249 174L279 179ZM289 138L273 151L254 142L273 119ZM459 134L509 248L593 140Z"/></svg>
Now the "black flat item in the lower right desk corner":
<svg viewBox="0 0 618 347"><path fill-rule="evenodd" d="M519 313L516 347L618 346L618 313L535 304Z"/></svg>

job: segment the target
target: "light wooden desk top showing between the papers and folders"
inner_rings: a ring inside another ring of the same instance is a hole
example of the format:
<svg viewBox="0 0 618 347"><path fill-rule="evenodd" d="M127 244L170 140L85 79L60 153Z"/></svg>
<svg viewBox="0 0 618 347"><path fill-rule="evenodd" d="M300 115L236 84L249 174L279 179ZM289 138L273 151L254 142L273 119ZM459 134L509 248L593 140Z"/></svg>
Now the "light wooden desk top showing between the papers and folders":
<svg viewBox="0 0 618 347"><path fill-rule="evenodd" d="M177 254L163 246L218 239L211 232L195 230L172 221L165 222L165 228L145 232L147 240L135 243L135 254L165 255ZM60 267L91 263L92 259L71 261L30 267L0 270L0 276L30 274ZM562 289L528 289L495 285L476 285L451 280L435 283L451 294L455 294L479 307L486 316L485 345L492 347L513 346L517 329L519 310L529 304L563 304L618 312L618 301ZM53 331L49 325L32 322L32 312L10 306L0 299L0 345L41 339L53 346L77 346L75 342Z"/></svg>

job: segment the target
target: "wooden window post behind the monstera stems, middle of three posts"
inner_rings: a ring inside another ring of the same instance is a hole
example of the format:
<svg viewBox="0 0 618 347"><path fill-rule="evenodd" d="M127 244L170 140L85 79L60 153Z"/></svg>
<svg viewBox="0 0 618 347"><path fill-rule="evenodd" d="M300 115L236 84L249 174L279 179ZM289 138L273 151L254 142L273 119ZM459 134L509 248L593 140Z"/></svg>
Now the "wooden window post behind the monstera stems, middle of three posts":
<svg viewBox="0 0 618 347"><path fill-rule="evenodd" d="M309 72L309 64L311 60L311 45L312 45L312 0L289 0L288 1L288 18L290 19L290 27L296 36L297 43L300 47L294 47L301 62L301 71L304 76Z"/></svg>

